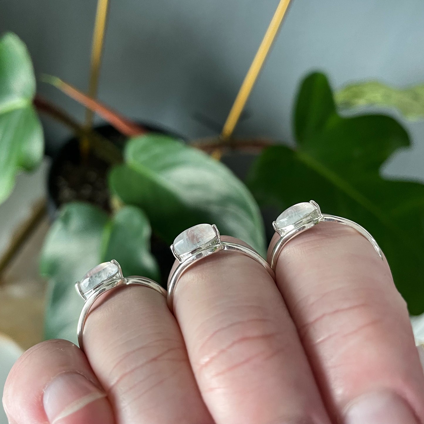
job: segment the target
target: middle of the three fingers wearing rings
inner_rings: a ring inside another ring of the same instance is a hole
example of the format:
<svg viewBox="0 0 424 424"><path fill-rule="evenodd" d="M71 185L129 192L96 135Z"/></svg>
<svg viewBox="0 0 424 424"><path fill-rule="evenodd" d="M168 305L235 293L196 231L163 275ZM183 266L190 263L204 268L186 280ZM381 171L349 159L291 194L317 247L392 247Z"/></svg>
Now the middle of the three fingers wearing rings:
<svg viewBox="0 0 424 424"><path fill-rule="evenodd" d="M196 262L174 311L217 424L329 423L282 297L254 259L222 251Z"/></svg>

